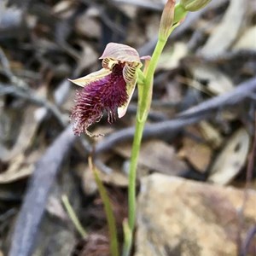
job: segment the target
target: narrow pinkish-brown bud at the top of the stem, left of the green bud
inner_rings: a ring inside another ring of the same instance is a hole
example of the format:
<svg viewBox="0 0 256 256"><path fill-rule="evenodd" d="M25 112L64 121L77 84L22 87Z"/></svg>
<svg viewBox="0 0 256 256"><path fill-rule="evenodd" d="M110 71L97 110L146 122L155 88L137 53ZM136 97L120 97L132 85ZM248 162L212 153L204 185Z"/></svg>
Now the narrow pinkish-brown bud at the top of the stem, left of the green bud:
<svg viewBox="0 0 256 256"><path fill-rule="evenodd" d="M174 9L175 0L167 0L160 20L159 37L161 39L165 40L170 36L174 18Z"/></svg>

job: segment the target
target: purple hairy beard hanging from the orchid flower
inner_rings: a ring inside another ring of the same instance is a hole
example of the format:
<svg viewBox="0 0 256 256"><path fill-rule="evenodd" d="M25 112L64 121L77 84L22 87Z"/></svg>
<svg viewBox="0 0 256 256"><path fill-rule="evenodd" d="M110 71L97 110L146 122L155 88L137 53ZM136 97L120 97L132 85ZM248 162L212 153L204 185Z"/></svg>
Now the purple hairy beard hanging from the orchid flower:
<svg viewBox="0 0 256 256"><path fill-rule="evenodd" d="M117 64L106 77L77 90L76 105L71 113L76 135L86 132L91 136L87 128L102 119L104 110L108 113L108 122L113 122L117 108L123 106L128 99L123 68L124 65Z"/></svg>

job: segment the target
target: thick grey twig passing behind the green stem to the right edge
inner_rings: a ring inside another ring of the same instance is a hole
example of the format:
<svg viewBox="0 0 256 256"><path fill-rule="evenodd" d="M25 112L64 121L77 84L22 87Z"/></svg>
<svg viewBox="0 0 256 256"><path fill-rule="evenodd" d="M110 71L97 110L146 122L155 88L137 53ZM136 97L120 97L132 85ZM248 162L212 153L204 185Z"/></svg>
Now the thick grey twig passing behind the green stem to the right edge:
<svg viewBox="0 0 256 256"><path fill-rule="evenodd" d="M256 77L249 79L244 83L238 84L234 90L221 96L213 97L210 100L189 108L188 110L179 113L177 118L159 122L152 125L146 125L143 133L143 138L162 137L166 134L172 134L178 131L185 125L195 124L202 119L209 119L212 114L219 108L233 106L250 97L253 91L256 90ZM105 137L105 139L96 144L95 154L100 154L103 151L113 148L118 143L131 141L134 134L134 128L125 128L120 131Z"/></svg>

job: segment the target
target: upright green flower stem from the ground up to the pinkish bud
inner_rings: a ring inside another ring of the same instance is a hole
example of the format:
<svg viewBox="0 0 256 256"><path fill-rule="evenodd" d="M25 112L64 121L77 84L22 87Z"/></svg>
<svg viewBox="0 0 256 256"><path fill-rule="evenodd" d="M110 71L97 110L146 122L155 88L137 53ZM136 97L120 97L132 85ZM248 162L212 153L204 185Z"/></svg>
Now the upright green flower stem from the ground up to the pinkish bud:
<svg viewBox="0 0 256 256"><path fill-rule="evenodd" d="M137 177L137 160L139 156L139 151L141 147L143 129L148 117L148 111L152 101L152 90L153 90L153 79L154 71L160 58L160 54L166 45L166 39L159 39L152 58L149 62L147 73L145 74L145 79L143 84L139 84L139 102L137 109L137 122L135 128L135 135L133 139L132 149L131 149L131 165L129 172L129 189L128 189L128 204L129 204L129 217L128 224L131 230L131 236L129 241L127 241L127 246L129 253L131 252L131 243L133 230L135 226L136 219L136 177Z"/></svg>

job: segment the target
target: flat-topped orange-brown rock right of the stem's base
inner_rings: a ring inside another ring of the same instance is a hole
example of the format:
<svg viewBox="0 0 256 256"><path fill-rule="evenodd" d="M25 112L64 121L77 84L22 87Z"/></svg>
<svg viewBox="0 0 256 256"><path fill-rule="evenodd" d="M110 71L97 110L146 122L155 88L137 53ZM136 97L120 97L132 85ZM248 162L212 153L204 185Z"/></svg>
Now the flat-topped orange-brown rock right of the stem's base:
<svg viewBox="0 0 256 256"><path fill-rule="evenodd" d="M232 187L162 174L144 177L135 255L237 255L243 198L244 191ZM248 190L241 241L255 222L256 191Z"/></svg>

